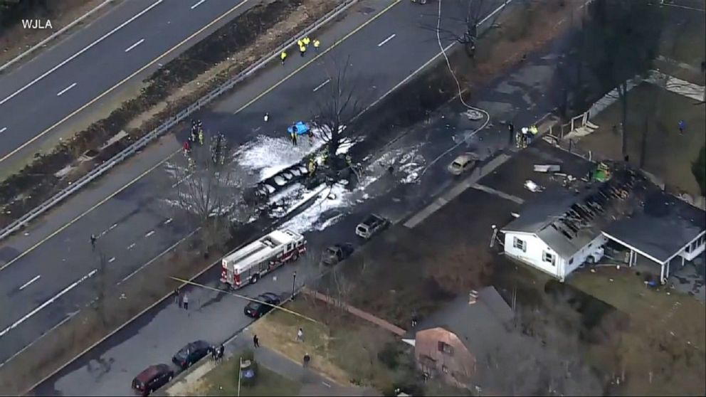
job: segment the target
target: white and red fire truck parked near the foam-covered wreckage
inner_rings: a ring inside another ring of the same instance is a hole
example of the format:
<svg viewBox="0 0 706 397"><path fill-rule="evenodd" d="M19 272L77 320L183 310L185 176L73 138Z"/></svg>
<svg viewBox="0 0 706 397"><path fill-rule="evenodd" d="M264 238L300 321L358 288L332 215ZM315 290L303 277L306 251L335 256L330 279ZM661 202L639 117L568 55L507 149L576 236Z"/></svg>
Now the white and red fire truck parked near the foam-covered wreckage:
<svg viewBox="0 0 706 397"><path fill-rule="evenodd" d="M288 229L275 230L221 260L221 282L236 289L255 283L280 265L294 262L306 252L304 236Z"/></svg>

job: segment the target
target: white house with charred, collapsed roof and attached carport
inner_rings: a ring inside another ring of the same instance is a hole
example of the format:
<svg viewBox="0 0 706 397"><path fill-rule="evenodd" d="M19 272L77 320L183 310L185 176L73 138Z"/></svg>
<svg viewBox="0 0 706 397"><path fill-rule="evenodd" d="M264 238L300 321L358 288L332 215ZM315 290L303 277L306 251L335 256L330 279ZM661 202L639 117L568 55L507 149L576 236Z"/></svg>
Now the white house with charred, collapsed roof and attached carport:
<svg viewBox="0 0 706 397"><path fill-rule="evenodd" d="M502 228L505 255L559 280L604 255L608 240L670 270L704 252L706 213L622 169L606 182L544 191Z"/></svg>

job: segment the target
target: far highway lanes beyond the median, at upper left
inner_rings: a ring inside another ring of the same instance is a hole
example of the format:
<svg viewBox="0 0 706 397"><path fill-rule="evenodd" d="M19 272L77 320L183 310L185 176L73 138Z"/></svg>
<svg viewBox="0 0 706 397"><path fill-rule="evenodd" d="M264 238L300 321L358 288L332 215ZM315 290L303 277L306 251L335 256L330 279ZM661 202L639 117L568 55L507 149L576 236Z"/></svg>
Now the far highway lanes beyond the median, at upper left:
<svg viewBox="0 0 706 397"><path fill-rule="evenodd" d="M0 164L15 155L33 154L36 146L51 137L60 124L90 110L90 106L100 106L100 95L108 90L115 95L125 83L143 78L150 67L157 68L158 60L184 51L187 44L179 45L194 33L204 28L188 45L255 3L127 0L20 68L2 75ZM172 48L174 51L166 54Z"/></svg>

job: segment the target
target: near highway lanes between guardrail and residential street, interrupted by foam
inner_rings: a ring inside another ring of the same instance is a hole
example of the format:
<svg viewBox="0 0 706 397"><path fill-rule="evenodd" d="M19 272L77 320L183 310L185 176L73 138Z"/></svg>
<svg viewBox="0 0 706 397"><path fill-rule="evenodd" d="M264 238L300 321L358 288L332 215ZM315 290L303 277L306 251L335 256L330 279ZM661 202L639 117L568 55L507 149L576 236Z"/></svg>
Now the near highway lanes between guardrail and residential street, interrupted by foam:
<svg viewBox="0 0 706 397"><path fill-rule="evenodd" d="M338 60L352 63L352 77L365 87L357 95L369 105L438 58L436 34L423 28L436 24L435 10L429 10L409 1L362 1L321 34L316 57L293 56L258 73L204 111L204 127L225 133L234 146L261 138L286 142L285 127L311 116L309 99L327 80L325 67ZM0 243L0 297L13 308L0 317L0 363L97 296L98 273L110 283L139 277L139 269L190 233L164 203L171 179L163 162L184 137L184 131L165 137L71 198L62 211ZM89 243L91 233L99 235L103 265Z"/></svg>

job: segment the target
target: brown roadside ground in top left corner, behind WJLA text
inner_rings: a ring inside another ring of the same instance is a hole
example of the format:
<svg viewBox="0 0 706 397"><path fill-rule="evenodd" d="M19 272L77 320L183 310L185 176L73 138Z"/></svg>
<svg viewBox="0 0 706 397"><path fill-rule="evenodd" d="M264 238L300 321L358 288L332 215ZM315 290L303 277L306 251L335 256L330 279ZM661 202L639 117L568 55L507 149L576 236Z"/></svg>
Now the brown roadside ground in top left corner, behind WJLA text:
<svg viewBox="0 0 706 397"><path fill-rule="evenodd" d="M48 38L60 28L67 26L69 23L86 14L101 4L103 0L63 0L63 1L43 1L43 5L35 4L33 9L18 10L13 15L7 17L8 21L2 21L4 26L0 27L0 65L4 65L9 60L14 59L24 51L27 51L32 46ZM29 2L35 3L35 2ZM105 15L110 9L117 4L107 4L102 9L88 16L80 23L77 23L72 29L63 33L62 36L68 35L73 29L86 26L88 23L95 21L100 16ZM5 19L5 16L3 16ZM51 21L51 29L26 29L22 27L21 19L41 19L43 23L46 20ZM31 59L46 48L56 44L61 37L54 39L53 43L49 43L47 47L37 48L27 58L19 60L14 65L21 64L23 61ZM7 73L7 71L4 71Z"/></svg>

